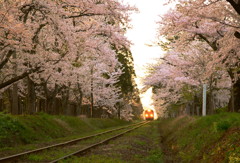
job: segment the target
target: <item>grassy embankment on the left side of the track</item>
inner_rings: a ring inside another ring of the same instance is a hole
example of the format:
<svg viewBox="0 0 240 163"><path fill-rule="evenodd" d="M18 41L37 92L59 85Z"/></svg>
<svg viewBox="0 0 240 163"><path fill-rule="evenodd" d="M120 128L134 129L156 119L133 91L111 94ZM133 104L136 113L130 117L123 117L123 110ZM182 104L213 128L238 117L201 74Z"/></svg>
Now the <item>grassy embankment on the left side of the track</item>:
<svg viewBox="0 0 240 163"><path fill-rule="evenodd" d="M18 151L27 144L42 143L44 146L129 123L117 119L80 119L47 114L13 116L0 113L0 152ZM26 149L35 147L30 145Z"/></svg>

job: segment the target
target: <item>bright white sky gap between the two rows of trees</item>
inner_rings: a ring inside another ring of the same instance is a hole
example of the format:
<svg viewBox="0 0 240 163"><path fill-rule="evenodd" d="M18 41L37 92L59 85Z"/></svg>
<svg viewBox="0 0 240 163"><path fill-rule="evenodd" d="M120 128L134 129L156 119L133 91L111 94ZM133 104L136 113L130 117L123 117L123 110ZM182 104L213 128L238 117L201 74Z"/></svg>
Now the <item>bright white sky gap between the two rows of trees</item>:
<svg viewBox="0 0 240 163"><path fill-rule="evenodd" d="M128 39L133 43L131 52L134 59L134 67L137 75L136 82L139 89L142 88L141 78L146 75L146 66L156 63L157 58L163 55L163 51L153 44L157 39L157 21L160 15L164 14L168 7L163 4L166 0L124 0L124 3L135 5L139 12L132 14L130 22L132 28L126 33ZM153 108L151 105L151 89L141 94L141 101L144 109Z"/></svg>

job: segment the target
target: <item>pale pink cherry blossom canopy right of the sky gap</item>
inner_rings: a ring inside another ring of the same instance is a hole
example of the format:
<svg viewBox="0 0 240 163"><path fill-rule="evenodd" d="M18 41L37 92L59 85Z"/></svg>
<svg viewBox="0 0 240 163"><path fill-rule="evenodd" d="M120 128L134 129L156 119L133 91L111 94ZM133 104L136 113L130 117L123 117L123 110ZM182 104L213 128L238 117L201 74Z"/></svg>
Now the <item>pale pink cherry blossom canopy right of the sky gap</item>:
<svg viewBox="0 0 240 163"><path fill-rule="evenodd" d="M239 63L239 41L233 36L233 33L239 28L239 15L232 10L228 3L204 0L178 1L175 9L164 15L159 24L159 35L168 40L161 45L169 50L169 54L164 58L163 67L160 68L163 72L155 69L154 73L157 74L158 72L164 78L163 81L167 86L174 83L174 80L181 79L178 84L172 84L170 91L165 90L165 97L171 94L170 98L173 98L174 102L179 101L179 97L181 97L179 96L181 94L179 90L184 88L181 84L191 85L191 80L199 83L207 82L210 87L210 99L213 94L212 84L220 82L219 79L226 81L225 87L229 87L228 81L230 79L233 87L235 87L232 90L236 90L239 80L239 73L236 71L236 65ZM229 57L229 53L233 53L231 57ZM196 54L205 56L204 62L198 64L192 62L192 58L199 58ZM178 58L182 56L185 57L179 61ZM169 61L169 57L171 61ZM193 68L182 67L181 62L192 62L194 64L188 64ZM227 62L231 62L233 69ZM200 68L197 68L198 65L201 65ZM185 70L185 72L182 70ZM164 73L164 71L167 73ZM231 72L234 72L234 75L231 75ZM165 75L167 78L164 77ZM201 81L194 78L195 76L199 77ZM149 83L150 80L147 79L146 83ZM156 80L161 84L163 82L161 78L159 80L156 78ZM157 81L156 83L158 83ZM161 84L160 86L162 86ZM232 97L238 96L238 92L233 93ZM238 106L236 101L234 105Z"/></svg>

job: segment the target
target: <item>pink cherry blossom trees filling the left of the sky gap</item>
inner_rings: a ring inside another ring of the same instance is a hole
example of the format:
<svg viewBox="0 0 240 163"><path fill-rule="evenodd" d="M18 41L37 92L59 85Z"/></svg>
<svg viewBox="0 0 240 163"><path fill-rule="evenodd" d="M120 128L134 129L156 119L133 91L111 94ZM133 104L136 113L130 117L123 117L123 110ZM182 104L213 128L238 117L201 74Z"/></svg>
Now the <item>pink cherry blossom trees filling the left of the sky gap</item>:
<svg viewBox="0 0 240 163"><path fill-rule="evenodd" d="M80 109L83 98L115 109L123 74L116 52L129 48L124 28L135 8L116 0L23 0L0 7L2 94L10 89L26 98L30 114L42 106L59 112L59 99L65 110L70 103Z"/></svg>

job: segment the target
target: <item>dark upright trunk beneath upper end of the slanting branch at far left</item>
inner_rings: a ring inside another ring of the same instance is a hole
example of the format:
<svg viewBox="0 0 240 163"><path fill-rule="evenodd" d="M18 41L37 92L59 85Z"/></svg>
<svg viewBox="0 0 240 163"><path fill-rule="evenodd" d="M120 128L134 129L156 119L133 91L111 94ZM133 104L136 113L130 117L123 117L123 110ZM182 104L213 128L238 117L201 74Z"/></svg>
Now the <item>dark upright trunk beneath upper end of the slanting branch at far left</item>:
<svg viewBox="0 0 240 163"><path fill-rule="evenodd" d="M33 114L36 112L36 93L34 82L28 77L28 94L27 94L27 114Z"/></svg>

